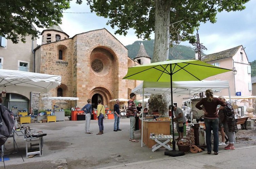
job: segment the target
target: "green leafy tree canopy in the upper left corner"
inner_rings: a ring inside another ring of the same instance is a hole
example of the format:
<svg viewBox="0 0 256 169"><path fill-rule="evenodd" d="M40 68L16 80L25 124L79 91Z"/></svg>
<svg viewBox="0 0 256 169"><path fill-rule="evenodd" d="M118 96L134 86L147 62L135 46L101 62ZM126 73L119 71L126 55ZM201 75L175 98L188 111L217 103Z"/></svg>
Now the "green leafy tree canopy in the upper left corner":
<svg viewBox="0 0 256 169"><path fill-rule="evenodd" d="M0 35L25 42L27 35L36 38L39 31L34 28L61 24L62 12L70 8L71 0L1 0L0 1ZM81 3L77 0L77 3Z"/></svg>

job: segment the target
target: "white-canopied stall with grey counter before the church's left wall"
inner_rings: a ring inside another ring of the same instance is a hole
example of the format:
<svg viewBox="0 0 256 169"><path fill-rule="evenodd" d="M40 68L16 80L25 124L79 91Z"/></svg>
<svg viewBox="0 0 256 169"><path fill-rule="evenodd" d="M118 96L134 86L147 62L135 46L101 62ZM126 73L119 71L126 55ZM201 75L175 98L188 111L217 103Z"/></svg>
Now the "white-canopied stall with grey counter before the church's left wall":
<svg viewBox="0 0 256 169"><path fill-rule="evenodd" d="M78 97L43 97L42 100L78 100ZM56 116L56 121L64 121L65 120L65 112L60 108L56 108L54 106L51 107L52 114Z"/></svg>

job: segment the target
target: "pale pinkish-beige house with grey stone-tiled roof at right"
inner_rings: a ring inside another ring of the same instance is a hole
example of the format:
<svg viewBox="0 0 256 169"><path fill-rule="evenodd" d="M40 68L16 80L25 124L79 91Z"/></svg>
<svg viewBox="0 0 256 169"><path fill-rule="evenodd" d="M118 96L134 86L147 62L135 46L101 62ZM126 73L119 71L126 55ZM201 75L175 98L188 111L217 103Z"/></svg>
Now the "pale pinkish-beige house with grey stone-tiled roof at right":
<svg viewBox="0 0 256 169"><path fill-rule="evenodd" d="M239 45L221 52L202 56L201 60L203 62L233 70L206 78L205 80L227 80L230 85L231 96L236 96L237 94L241 94L241 96L252 96L251 64L248 61L248 57L244 49L245 48L242 45ZM214 95L228 96L229 92L227 89L224 89L214 91ZM181 107L183 102L188 101L188 97L189 96L176 95L174 101L177 100L178 106ZM198 95L191 97L197 98ZM243 106L244 103L240 103L240 101L241 100L236 102L237 105Z"/></svg>

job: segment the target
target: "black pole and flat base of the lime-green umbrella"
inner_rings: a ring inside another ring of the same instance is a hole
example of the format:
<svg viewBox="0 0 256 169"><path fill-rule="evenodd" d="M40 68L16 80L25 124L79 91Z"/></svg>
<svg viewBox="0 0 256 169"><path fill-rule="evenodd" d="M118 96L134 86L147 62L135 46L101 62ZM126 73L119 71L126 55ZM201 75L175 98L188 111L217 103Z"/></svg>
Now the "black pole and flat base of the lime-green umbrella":
<svg viewBox="0 0 256 169"><path fill-rule="evenodd" d="M168 150L164 152L164 155L170 155L170 156L181 156L181 155L185 155L185 153L183 151L177 151L176 150L176 142L174 139L174 108L173 108L173 76L172 76L172 64L170 64L170 78L171 78L171 104L172 104L172 135L173 135L173 141L172 141L172 145L173 145L173 149L172 150Z"/></svg>

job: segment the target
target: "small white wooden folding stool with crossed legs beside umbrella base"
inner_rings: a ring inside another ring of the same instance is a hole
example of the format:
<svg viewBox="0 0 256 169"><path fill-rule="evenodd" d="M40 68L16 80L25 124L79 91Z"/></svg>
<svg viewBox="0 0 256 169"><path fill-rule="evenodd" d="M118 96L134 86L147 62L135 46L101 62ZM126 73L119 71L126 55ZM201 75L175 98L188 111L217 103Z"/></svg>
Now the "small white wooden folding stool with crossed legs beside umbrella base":
<svg viewBox="0 0 256 169"><path fill-rule="evenodd" d="M150 139L155 140L156 144L152 146L152 151L156 151L160 147L165 147L168 150L172 150L171 146L168 144L172 141L172 135L162 135L161 137L152 136Z"/></svg>

